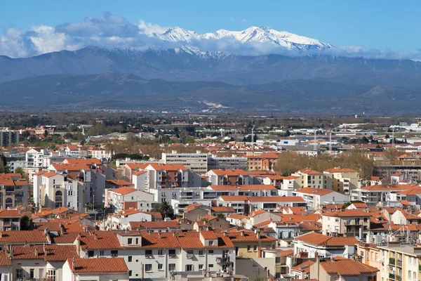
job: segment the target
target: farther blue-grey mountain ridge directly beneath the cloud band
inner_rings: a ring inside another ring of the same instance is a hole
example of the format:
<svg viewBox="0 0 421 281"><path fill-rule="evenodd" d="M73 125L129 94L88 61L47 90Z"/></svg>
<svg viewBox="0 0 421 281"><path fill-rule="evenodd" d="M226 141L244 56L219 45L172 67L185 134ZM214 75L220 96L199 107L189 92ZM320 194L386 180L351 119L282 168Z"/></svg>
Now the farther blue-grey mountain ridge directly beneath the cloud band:
<svg viewBox="0 0 421 281"><path fill-rule="evenodd" d="M291 79L421 87L421 63L328 55L241 56L190 48L137 51L87 47L32 58L0 57L0 83L49 74L130 73L167 81L266 84Z"/></svg>

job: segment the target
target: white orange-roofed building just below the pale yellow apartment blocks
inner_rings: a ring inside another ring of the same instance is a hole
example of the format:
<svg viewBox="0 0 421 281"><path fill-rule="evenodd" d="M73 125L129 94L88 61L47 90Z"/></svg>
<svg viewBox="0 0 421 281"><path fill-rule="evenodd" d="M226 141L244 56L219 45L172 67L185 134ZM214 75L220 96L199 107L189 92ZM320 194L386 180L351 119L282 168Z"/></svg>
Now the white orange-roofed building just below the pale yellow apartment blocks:
<svg viewBox="0 0 421 281"><path fill-rule="evenodd" d="M349 196L340 192L319 188L301 188L292 192L293 196L302 197L307 203L307 209L316 210L323 204L349 202Z"/></svg>

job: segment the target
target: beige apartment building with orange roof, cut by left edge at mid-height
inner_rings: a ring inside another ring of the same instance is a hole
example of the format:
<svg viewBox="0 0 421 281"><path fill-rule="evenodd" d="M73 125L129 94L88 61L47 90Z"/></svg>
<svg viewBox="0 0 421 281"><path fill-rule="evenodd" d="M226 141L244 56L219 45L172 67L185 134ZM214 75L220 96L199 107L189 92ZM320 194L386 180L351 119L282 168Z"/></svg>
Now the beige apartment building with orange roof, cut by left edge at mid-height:
<svg viewBox="0 0 421 281"><path fill-rule="evenodd" d="M28 182L20 174L0 174L0 209L28 203Z"/></svg>

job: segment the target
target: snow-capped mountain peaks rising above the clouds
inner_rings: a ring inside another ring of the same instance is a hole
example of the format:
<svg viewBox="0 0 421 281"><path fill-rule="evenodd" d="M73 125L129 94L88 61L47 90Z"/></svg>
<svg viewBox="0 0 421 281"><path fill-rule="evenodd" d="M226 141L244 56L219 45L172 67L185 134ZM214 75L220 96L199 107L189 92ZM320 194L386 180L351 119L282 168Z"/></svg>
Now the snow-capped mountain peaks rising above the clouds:
<svg viewBox="0 0 421 281"><path fill-rule="evenodd" d="M232 40L242 44L246 43L269 43L279 45L288 49L309 50L314 48L330 48L330 44L323 43L317 39L303 37L289 32L279 32L270 27L248 27L242 31L218 30L205 34L185 30L182 27L173 27L162 34L149 34L163 41L181 44L194 45L201 40Z"/></svg>

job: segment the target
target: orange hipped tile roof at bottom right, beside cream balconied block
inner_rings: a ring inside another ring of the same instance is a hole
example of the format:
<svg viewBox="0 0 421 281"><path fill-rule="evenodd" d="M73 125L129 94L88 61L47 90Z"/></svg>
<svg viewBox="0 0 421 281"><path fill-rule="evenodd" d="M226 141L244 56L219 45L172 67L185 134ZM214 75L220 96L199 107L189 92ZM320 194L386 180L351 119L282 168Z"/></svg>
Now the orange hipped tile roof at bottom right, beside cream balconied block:
<svg viewBox="0 0 421 281"><path fill-rule="evenodd" d="M368 266L354 259L335 259L334 261L321 261L320 266L328 274L338 275L360 275L362 273L376 273L379 270L373 266Z"/></svg>

